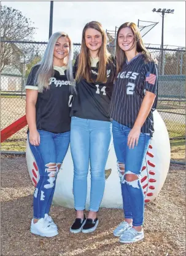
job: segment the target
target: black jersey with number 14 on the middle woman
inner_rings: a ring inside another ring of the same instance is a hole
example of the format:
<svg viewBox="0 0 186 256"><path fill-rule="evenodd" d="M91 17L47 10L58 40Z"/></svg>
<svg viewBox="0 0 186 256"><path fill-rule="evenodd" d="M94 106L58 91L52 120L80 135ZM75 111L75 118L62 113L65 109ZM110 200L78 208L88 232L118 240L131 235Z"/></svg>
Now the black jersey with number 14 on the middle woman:
<svg viewBox="0 0 186 256"><path fill-rule="evenodd" d="M115 65L113 62L110 61L106 65L106 83L87 82L83 78L76 82L76 96L72 103L71 116L98 121L110 121L108 110L115 75ZM78 56L74 65L75 70L77 70L77 63ZM91 78L93 81L96 81L98 69L99 62L95 67L91 66Z"/></svg>

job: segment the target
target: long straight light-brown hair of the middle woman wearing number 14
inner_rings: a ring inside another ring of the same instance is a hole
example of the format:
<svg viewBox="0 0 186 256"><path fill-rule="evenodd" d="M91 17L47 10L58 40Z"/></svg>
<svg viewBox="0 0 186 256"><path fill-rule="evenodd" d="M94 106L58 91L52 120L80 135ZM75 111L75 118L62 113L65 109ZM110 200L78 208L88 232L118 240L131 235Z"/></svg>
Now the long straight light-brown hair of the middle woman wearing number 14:
<svg viewBox="0 0 186 256"><path fill-rule="evenodd" d="M88 28L93 28L99 31L102 35L103 41L98 52L99 70L98 70L98 77L96 79L96 82L106 82L107 81L106 64L109 62L110 54L107 50L106 32L103 30L103 27L99 22L89 22L83 28L82 46L79 54L79 60L77 63L78 67L77 67L77 73L76 73L76 81L79 81L80 78L85 78L88 82L93 82L93 80L91 79L90 51L85 44L85 31Z"/></svg>

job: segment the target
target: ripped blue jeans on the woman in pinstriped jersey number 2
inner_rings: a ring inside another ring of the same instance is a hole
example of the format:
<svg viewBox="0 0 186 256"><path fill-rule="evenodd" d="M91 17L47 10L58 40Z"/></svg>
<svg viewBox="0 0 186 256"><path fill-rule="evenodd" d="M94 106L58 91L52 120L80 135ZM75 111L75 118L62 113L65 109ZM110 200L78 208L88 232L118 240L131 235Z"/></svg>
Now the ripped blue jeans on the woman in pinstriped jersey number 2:
<svg viewBox="0 0 186 256"><path fill-rule="evenodd" d="M124 215L125 218L133 219L133 226L141 226L144 222L144 193L140 177L150 144L150 135L141 133L138 146L135 145L134 148L129 148L127 140L130 130L130 127L123 126L113 120L112 134L118 161ZM135 174L138 179L129 182L125 178L126 174Z"/></svg>

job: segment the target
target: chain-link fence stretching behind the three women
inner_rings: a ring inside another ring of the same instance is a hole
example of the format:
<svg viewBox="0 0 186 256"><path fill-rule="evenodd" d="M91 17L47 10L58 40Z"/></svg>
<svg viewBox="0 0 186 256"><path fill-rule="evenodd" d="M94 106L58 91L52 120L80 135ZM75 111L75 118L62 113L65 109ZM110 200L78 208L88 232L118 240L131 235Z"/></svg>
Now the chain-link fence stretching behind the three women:
<svg viewBox="0 0 186 256"><path fill-rule="evenodd" d="M31 68L41 60L47 42L1 41L1 129L25 115L25 83ZM80 53L74 44L74 61ZM185 48L160 49L147 46L158 60L157 110L165 121L169 137L185 138ZM107 46L115 54L115 46ZM3 143L2 150L25 151L27 127Z"/></svg>

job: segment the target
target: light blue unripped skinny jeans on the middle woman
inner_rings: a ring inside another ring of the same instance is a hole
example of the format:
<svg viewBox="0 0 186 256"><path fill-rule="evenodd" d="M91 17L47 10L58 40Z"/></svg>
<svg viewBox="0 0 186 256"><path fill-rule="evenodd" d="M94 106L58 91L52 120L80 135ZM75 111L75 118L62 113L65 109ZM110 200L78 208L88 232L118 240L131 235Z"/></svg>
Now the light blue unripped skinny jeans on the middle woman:
<svg viewBox="0 0 186 256"><path fill-rule="evenodd" d="M71 153L74 162L74 208L84 210L90 161L90 209L99 210L105 186L105 166L112 137L112 122L72 117Z"/></svg>

